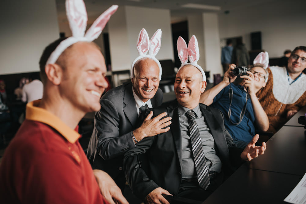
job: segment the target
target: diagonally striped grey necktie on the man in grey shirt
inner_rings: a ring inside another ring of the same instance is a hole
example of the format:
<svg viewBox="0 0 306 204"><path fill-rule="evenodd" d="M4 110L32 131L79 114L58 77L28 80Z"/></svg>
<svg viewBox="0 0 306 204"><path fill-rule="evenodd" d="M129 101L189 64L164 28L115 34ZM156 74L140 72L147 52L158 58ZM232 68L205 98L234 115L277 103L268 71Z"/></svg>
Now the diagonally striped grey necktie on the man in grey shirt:
<svg viewBox="0 0 306 204"><path fill-rule="evenodd" d="M206 190L210 184L210 180L208 175L208 168L206 166L202 140L200 138L199 127L196 124L194 112L189 110L186 112L186 114L189 118L189 135L199 186Z"/></svg>

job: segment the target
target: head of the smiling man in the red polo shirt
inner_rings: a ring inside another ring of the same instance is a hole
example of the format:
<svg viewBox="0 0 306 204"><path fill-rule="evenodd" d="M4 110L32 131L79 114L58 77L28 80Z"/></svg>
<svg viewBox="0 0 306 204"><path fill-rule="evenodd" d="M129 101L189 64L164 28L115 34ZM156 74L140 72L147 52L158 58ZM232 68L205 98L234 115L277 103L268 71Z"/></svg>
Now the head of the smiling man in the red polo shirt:
<svg viewBox="0 0 306 204"><path fill-rule="evenodd" d="M43 99L62 99L80 114L101 109L99 100L108 83L104 57L95 44L73 44L56 63L46 65L45 74Z"/></svg>

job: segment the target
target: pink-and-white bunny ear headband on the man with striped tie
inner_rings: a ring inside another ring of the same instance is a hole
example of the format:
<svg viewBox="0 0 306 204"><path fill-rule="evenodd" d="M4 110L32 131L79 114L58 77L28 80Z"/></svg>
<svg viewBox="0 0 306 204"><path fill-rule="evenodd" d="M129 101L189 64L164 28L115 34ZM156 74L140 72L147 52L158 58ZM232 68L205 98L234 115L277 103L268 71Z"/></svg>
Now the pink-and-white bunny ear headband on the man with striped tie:
<svg viewBox="0 0 306 204"><path fill-rule="evenodd" d="M178 37L176 45L177 45L177 54L182 63L181 67L178 70L180 70L182 67L184 67L187 64L191 64L201 71L203 81L206 81L206 76L202 67L196 64L200 57L199 45L196 36L192 35L188 43L188 48L185 40L181 36ZM188 56L190 63L188 63Z"/></svg>

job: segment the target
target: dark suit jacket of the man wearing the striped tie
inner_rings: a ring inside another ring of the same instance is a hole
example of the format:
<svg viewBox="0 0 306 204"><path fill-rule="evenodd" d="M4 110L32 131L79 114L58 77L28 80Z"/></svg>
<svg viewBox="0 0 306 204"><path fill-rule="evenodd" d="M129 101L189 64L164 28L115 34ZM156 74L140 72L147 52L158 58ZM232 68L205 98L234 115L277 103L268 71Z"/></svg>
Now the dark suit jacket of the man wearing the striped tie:
<svg viewBox="0 0 306 204"><path fill-rule="evenodd" d="M220 110L200 104L200 110L215 140L216 153L221 159L222 170L229 174L235 166L241 165L240 154L243 149L237 148L224 126ZM130 149L124 156L125 177L133 193L144 199L155 188L162 187L176 195L181 185L182 139L179 123L177 100L154 108L154 115L167 112L172 117L170 130L155 137L141 140L136 148ZM146 153L148 166L140 166L138 156Z"/></svg>

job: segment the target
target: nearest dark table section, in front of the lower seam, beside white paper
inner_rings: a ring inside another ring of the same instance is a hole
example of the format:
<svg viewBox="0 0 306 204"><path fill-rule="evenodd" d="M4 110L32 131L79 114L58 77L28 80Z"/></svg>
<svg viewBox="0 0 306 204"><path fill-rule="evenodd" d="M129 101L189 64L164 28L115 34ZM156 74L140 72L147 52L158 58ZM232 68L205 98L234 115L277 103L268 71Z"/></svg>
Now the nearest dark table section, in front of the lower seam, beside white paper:
<svg viewBox="0 0 306 204"><path fill-rule="evenodd" d="M223 203L287 203L303 176L239 168L203 204Z"/></svg>

